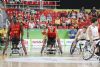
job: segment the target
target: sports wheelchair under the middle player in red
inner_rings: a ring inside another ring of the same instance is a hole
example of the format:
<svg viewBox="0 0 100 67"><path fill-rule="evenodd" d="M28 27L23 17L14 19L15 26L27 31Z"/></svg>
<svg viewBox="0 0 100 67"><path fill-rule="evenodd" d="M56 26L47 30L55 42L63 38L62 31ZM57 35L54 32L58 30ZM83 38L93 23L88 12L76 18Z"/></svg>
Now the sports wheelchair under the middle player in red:
<svg viewBox="0 0 100 67"><path fill-rule="evenodd" d="M61 50L57 45L57 41L46 40L46 46L44 47L43 53L47 55L51 55L51 54L56 55L57 53L61 54Z"/></svg>

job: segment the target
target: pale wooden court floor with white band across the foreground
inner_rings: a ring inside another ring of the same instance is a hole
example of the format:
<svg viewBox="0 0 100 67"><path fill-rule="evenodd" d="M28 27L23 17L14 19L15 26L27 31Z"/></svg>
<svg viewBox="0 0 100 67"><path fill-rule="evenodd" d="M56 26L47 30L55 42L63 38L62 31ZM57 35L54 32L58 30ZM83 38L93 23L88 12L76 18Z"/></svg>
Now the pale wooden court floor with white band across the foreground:
<svg viewBox="0 0 100 67"><path fill-rule="evenodd" d="M96 58L85 61L80 55L43 55L33 53L28 56L2 56L0 67L100 67Z"/></svg>

